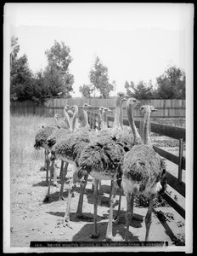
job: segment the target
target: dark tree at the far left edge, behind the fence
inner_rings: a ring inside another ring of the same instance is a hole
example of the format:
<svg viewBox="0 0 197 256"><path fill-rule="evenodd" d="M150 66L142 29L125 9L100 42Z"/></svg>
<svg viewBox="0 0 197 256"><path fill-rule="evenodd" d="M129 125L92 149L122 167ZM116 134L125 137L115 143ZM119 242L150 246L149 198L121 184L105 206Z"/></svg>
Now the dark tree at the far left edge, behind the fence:
<svg viewBox="0 0 197 256"><path fill-rule="evenodd" d="M26 55L18 58L20 45L18 38L11 38L10 53L10 99L24 101L32 96L32 73Z"/></svg>

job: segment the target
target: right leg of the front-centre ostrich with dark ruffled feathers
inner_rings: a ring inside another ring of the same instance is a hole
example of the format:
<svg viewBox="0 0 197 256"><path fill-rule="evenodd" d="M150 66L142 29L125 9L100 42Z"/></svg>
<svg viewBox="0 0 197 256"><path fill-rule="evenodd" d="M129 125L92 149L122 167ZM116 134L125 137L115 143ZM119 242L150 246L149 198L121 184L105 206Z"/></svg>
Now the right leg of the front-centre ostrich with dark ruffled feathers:
<svg viewBox="0 0 197 256"><path fill-rule="evenodd" d="M110 197L110 216L109 216L107 233L106 233L106 239L109 241L112 240L112 238L113 238L112 221L113 221L113 208L115 205L115 195L116 195L116 183L115 183L115 181L113 181L112 188L111 188L111 197Z"/></svg>

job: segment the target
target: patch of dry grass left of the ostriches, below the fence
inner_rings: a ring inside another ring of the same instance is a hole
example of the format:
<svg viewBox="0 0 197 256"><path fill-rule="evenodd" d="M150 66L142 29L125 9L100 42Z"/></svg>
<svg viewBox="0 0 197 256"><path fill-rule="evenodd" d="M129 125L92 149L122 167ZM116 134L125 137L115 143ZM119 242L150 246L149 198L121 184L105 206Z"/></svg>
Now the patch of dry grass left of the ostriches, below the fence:
<svg viewBox="0 0 197 256"><path fill-rule="evenodd" d="M11 183L25 180L35 171L36 166L43 165L44 151L36 150L33 145L40 125L53 125L52 117L14 116L10 117L10 177Z"/></svg>

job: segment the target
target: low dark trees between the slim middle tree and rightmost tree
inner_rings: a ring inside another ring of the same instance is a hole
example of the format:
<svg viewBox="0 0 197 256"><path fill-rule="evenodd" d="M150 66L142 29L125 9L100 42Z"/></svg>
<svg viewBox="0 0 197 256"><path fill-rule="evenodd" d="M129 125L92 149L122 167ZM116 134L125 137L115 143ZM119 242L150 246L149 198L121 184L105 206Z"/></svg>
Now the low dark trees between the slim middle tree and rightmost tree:
<svg viewBox="0 0 197 256"><path fill-rule="evenodd" d="M151 80L149 81L149 84L144 83L144 81L140 81L137 85L133 82L129 84L126 81L125 88L129 96L135 97L138 100L151 99L154 97L153 84Z"/></svg>

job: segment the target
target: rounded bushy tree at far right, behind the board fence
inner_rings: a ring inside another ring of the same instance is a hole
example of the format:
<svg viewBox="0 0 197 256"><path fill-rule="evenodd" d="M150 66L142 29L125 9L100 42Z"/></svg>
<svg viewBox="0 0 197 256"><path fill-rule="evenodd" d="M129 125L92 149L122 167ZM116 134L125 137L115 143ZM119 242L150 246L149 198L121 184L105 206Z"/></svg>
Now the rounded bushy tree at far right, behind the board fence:
<svg viewBox="0 0 197 256"><path fill-rule="evenodd" d="M175 66L168 68L157 79L157 97L162 99L185 98L185 73Z"/></svg>

